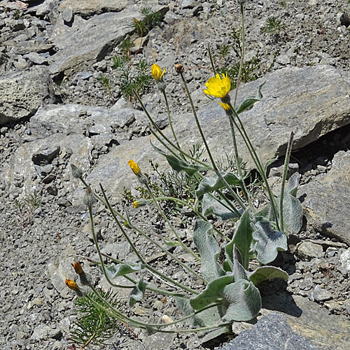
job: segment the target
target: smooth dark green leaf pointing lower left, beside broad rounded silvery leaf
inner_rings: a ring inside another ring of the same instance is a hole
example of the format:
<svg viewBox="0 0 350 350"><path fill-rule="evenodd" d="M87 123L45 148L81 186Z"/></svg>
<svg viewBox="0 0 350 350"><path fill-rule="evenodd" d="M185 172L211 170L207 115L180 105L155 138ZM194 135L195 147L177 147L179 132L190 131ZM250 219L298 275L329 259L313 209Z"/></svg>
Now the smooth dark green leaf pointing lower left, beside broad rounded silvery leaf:
<svg viewBox="0 0 350 350"><path fill-rule="evenodd" d="M235 281L232 275L221 276L207 284L206 288L195 297L190 299L190 305L195 310L203 309L221 299L223 288Z"/></svg>

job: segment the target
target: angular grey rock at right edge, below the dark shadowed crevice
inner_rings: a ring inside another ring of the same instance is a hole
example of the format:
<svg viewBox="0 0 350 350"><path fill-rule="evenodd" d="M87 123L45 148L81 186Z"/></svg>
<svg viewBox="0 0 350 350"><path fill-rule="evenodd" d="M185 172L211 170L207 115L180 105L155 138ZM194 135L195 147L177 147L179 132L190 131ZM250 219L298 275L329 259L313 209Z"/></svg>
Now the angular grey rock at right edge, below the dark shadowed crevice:
<svg viewBox="0 0 350 350"><path fill-rule="evenodd" d="M350 151L339 151L332 169L301 186L298 195L310 225L350 245Z"/></svg>

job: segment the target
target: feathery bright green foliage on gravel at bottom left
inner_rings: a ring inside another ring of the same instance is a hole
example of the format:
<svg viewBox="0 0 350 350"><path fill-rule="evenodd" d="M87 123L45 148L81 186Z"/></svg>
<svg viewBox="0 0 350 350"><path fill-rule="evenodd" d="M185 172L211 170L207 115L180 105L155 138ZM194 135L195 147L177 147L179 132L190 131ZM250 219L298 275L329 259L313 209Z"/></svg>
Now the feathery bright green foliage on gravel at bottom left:
<svg viewBox="0 0 350 350"><path fill-rule="evenodd" d="M89 297L79 297L75 301L76 312L80 316L78 316L74 330L71 332L70 339L74 344L82 346L81 349L86 346L89 349L99 349L102 344L105 344L113 335L116 335L116 332L120 331L120 322L109 316L102 308L108 308L108 304L119 307L118 293L113 293L111 288L107 291L99 290L99 293L106 302L99 300L93 293L90 293ZM102 307L98 307L90 298L99 302Z"/></svg>

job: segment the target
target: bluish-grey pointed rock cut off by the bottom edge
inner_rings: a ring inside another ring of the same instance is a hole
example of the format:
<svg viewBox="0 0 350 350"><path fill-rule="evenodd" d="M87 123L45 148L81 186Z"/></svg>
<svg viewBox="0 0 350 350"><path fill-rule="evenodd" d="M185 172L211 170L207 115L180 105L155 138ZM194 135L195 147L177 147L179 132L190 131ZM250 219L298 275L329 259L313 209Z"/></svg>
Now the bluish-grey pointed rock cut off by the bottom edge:
<svg viewBox="0 0 350 350"><path fill-rule="evenodd" d="M286 317L269 314L260 318L249 330L241 332L221 350L317 350L304 337L293 332Z"/></svg>

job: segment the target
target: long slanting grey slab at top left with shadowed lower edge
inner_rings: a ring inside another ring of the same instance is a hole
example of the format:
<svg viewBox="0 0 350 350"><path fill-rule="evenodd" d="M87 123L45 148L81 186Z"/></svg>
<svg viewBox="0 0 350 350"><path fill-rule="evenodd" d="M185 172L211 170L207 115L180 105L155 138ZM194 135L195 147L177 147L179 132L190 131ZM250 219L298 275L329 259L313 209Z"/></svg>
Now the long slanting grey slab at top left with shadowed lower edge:
<svg viewBox="0 0 350 350"><path fill-rule="evenodd" d="M158 6L159 7L159 6ZM166 10L166 6L157 10ZM76 71L79 66L90 66L132 34L133 18L141 18L138 5L127 6L118 13L102 13L89 20L76 16L71 27L59 18L52 35L57 53L52 55L50 72Z"/></svg>

